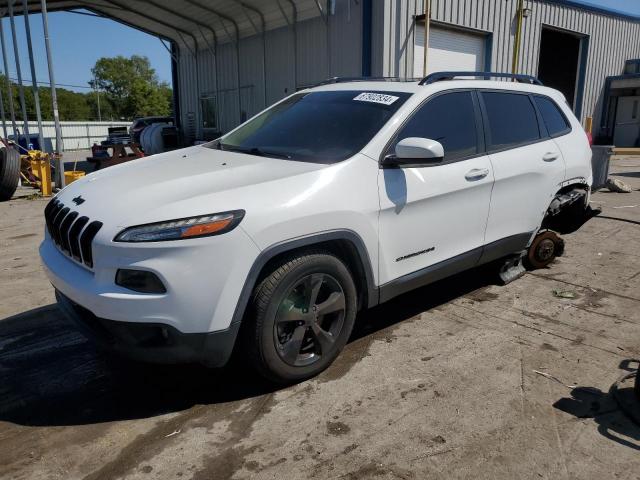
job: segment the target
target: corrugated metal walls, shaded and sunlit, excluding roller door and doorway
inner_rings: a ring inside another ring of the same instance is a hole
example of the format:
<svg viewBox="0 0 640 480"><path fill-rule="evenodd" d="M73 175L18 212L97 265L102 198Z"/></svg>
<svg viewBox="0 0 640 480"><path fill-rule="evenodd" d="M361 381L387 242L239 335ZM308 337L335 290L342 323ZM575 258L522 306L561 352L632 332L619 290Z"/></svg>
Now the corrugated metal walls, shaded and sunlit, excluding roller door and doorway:
<svg viewBox="0 0 640 480"><path fill-rule="evenodd" d="M413 71L414 16L423 12L423 2L372 0L372 75L420 76ZM431 0L432 19L491 34L491 70L508 72L516 5L517 0ZM622 73L626 59L640 57L640 22L545 0L526 0L525 6L531 15L523 24L521 73L537 74L543 26L588 37L582 117L594 116L597 126L605 77ZM362 1L336 1L328 23L319 13L304 13L295 28L268 30L264 43L262 34L241 38L239 55L226 37L219 39L227 43L217 47L217 59L206 45L197 53L181 45L177 88L187 139L202 137L202 95L217 96L218 126L225 132L241 116L248 118L297 88L332 76L361 75Z"/></svg>

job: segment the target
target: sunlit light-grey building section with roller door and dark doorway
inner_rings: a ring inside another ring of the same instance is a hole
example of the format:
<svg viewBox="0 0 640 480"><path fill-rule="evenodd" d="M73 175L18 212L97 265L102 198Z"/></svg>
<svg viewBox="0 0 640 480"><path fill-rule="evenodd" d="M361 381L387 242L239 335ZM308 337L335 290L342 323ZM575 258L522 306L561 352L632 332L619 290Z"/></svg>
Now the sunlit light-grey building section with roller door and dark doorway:
<svg viewBox="0 0 640 480"><path fill-rule="evenodd" d="M383 30L381 37L390 40L374 42L373 58L380 62L375 73L419 76L423 0L374 0L374 4L381 10L376 30ZM432 0L430 45L437 46L434 37L436 41L447 33L454 37L449 42L449 54L458 54L454 64L449 64L454 67L456 61L460 63L461 50L472 51L457 48L455 37L459 43L473 43L475 51L482 44L482 53L475 56L476 67L509 72L517 4L517 0ZM579 118L594 118L594 135L612 136L606 115L602 115L605 81L623 73L626 60L640 58L640 18L571 1L529 0L524 6L518 73L538 76L545 85L563 91ZM438 50L430 48L429 58L437 59ZM433 71L430 63L428 71ZM640 84L635 94L640 94Z"/></svg>

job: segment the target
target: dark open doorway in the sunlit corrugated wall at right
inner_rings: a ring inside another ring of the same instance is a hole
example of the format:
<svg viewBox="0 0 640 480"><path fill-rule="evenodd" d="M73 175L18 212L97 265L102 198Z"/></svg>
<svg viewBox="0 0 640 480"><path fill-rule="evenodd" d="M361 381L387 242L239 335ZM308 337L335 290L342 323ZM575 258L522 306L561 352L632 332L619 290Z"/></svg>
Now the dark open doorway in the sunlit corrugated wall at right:
<svg viewBox="0 0 640 480"><path fill-rule="evenodd" d="M543 28L540 36L538 78L547 87L560 90L576 111L576 87L579 84L580 45L582 37Z"/></svg>

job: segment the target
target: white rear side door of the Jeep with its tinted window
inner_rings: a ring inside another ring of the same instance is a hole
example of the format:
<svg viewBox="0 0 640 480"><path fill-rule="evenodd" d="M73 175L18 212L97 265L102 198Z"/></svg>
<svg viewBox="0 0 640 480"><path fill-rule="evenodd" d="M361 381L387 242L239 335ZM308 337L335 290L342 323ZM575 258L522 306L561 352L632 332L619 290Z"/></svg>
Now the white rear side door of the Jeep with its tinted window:
<svg viewBox="0 0 640 480"><path fill-rule="evenodd" d="M531 95L482 91L480 100L495 178L485 251L497 257L526 246L564 180L565 163Z"/></svg>

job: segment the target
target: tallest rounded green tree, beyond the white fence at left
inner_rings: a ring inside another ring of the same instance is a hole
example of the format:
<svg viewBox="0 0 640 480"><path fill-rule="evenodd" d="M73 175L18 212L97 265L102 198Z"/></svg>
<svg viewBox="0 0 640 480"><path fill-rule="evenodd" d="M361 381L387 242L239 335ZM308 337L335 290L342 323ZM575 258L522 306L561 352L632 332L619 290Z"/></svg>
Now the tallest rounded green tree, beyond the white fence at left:
<svg viewBox="0 0 640 480"><path fill-rule="evenodd" d="M170 114L171 89L158 81L147 57L102 57L91 73L90 85L104 92L104 103L117 118Z"/></svg>

